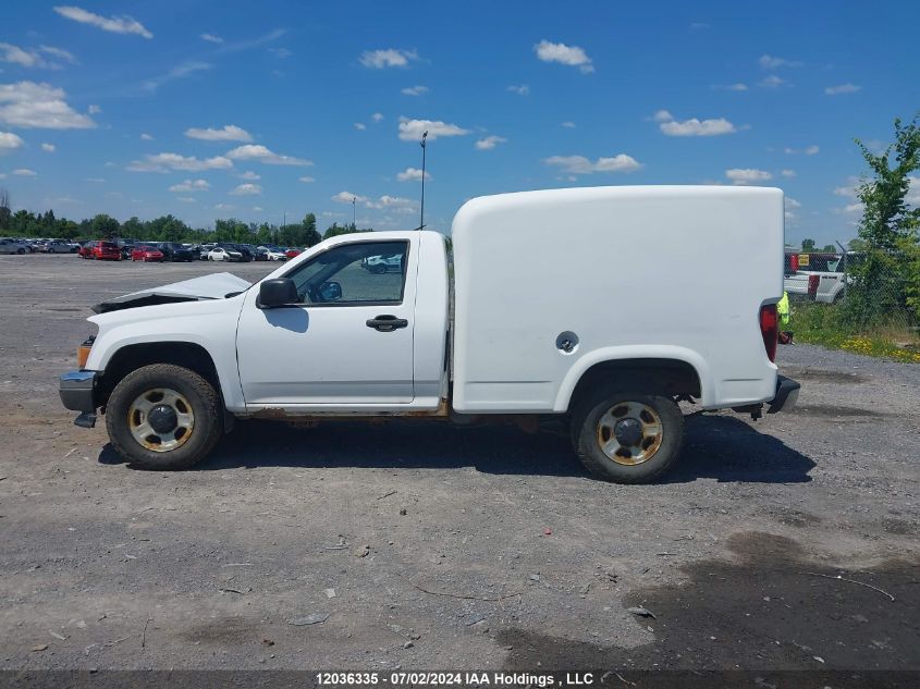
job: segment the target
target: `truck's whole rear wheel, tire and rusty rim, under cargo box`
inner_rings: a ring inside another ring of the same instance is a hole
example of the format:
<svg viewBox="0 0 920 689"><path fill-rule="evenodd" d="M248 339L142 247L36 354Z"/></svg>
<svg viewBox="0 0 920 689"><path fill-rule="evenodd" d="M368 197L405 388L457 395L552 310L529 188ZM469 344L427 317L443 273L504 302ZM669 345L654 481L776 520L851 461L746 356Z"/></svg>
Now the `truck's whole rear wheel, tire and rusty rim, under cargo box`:
<svg viewBox="0 0 920 689"><path fill-rule="evenodd" d="M667 396L602 391L572 418L572 440L596 477L615 483L650 483L674 464L684 440L684 415Z"/></svg>

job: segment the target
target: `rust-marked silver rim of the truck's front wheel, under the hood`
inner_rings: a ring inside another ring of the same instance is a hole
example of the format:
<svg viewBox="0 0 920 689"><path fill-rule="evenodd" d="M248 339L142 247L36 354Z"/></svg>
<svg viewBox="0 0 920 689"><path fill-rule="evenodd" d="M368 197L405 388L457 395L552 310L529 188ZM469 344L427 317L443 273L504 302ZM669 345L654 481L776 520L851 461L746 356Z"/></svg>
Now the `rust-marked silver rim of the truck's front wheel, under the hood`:
<svg viewBox="0 0 920 689"><path fill-rule="evenodd" d="M192 438L195 414L188 401L176 391L154 387L131 403L127 426L143 447L151 452L171 452Z"/></svg>

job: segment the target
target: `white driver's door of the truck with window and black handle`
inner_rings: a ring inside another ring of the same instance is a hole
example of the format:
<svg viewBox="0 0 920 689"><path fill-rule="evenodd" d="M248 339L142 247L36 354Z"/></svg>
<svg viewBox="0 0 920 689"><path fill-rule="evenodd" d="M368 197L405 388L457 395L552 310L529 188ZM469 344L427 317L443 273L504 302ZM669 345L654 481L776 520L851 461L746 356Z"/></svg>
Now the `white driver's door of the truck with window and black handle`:
<svg viewBox="0 0 920 689"><path fill-rule="evenodd" d="M258 290L250 290L236 335L247 406L410 403L418 258L409 245L331 246L283 275L297 287L293 306L260 309ZM395 268L367 269L394 256Z"/></svg>

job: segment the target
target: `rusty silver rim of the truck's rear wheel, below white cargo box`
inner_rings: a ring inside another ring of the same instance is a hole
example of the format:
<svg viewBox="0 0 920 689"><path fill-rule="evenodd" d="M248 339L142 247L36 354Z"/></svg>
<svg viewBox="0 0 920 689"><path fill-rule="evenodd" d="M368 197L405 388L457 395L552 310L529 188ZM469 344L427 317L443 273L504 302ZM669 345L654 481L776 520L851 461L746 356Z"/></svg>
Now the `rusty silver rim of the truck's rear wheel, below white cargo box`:
<svg viewBox="0 0 920 689"><path fill-rule="evenodd" d="M598 446L622 465L637 465L655 456L664 439L661 417L647 404L618 402L598 420Z"/></svg>

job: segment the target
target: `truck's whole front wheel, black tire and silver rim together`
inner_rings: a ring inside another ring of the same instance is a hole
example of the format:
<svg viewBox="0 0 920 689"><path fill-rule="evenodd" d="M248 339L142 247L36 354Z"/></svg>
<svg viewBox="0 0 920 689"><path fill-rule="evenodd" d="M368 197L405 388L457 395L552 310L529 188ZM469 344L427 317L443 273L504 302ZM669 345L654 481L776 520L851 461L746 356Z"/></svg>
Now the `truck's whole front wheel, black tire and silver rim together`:
<svg viewBox="0 0 920 689"><path fill-rule="evenodd" d="M133 467L187 469L220 440L223 409L218 392L195 371L154 364L115 385L106 429L112 446Z"/></svg>

